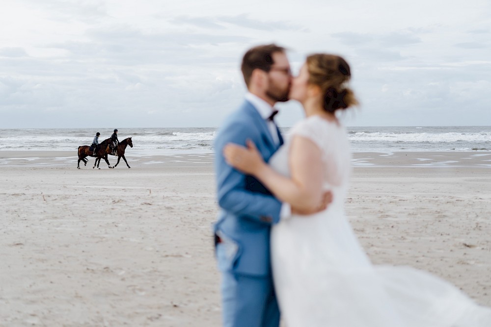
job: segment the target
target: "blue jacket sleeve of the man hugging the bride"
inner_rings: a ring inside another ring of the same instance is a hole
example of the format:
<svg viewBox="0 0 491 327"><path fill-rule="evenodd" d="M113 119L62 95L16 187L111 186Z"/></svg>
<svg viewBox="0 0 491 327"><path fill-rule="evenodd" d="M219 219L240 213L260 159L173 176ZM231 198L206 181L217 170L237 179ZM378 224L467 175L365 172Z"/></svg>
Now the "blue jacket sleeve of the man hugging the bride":
<svg viewBox="0 0 491 327"><path fill-rule="evenodd" d="M223 157L222 150L227 143L244 146L246 139L251 139L260 151L264 150L260 133L246 124L226 126L215 141L218 205L238 216L275 224L279 221L281 202L272 195L247 190L246 175L229 166Z"/></svg>

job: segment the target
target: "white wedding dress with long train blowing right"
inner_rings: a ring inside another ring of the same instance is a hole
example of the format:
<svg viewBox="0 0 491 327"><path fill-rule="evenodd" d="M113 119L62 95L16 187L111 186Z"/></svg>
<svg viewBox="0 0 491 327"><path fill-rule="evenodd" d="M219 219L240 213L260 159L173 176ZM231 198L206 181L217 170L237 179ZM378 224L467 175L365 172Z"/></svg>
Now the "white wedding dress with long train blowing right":
<svg viewBox="0 0 491 327"><path fill-rule="evenodd" d="M322 151L327 210L291 216L272 229L273 279L287 327L491 327L491 309L457 287L410 267L370 263L344 213L351 172L345 129L312 116L292 128ZM271 158L290 176L289 142Z"/></svg>

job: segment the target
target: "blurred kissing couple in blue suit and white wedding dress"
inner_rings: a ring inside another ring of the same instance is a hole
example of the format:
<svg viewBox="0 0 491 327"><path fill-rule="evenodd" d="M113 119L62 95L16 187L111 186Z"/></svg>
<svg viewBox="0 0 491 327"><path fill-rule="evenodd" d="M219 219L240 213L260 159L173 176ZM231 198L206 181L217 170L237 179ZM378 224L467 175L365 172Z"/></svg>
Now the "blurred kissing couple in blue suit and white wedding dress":
<svg viewBox="0 0 491 327"><path fill-rule="evenodd" d="M344 212L351 151L337 112L357 104L342 57L246 52L243 104L220 127L214 225L224 327L489 327L491 309L410 267L373 265ZM276 102L305 118L283 140Z"/></svg>

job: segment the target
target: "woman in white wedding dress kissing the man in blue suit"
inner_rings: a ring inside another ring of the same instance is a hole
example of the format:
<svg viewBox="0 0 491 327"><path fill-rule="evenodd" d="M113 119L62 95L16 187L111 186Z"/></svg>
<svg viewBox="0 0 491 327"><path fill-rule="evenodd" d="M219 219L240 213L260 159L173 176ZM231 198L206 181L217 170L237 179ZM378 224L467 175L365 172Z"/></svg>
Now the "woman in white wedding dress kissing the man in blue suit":
<svg viewBox="0 0 491 327"><path fill-rule="evenodd" d="M348 63L339 56L307 57L290 91L306 118L270 160L252 142L229 144L224 155L256 176L281 201L298 208L333 201L309 216L292 215L273 226L273 279L288 327L489 327L491 309L457 287L410 267L375 266L344 213L351 152L337 110L355 105Z"/></svg>

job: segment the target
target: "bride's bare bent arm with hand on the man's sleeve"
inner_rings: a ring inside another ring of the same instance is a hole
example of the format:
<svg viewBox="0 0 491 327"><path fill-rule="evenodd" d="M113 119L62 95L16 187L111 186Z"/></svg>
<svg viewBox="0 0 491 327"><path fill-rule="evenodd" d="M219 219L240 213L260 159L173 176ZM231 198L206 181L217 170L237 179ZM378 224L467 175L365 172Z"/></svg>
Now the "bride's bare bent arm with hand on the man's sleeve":
<svg viewBox="0 0 491 327"><path fill-rule="evenodd" d="M247 148L229 144L223 153L230 165L258 178L280 201L300 211L317 211L325 196L321 151L314 142L298 135L291 140L289 150L291 178L267 165L251 141Z"/></svg>

